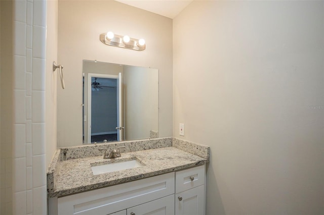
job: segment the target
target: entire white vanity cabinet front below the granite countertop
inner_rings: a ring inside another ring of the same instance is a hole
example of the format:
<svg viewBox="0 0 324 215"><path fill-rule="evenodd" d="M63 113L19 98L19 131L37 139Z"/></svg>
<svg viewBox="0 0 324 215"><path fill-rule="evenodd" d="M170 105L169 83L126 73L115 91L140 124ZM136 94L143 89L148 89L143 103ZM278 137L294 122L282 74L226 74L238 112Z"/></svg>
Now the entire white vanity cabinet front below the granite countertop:
<svg viewBox="0 0 324 215"><path fill-rule="evenodd" d="M204 184L205 166L199 166L97 190L50 198L49 214L201 215L205 213Z"/></svg>

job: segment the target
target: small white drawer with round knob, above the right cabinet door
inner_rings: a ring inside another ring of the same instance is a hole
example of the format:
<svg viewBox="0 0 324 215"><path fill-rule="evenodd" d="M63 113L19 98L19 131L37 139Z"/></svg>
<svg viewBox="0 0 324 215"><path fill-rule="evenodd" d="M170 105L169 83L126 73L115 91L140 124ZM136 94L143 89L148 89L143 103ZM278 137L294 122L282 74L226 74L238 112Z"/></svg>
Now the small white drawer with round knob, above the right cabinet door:
<svg viewBox="0 0 324 215"><path fill-rule="evenodd" d="M205 166L176 172L176 193L205 184Z"/></svg>

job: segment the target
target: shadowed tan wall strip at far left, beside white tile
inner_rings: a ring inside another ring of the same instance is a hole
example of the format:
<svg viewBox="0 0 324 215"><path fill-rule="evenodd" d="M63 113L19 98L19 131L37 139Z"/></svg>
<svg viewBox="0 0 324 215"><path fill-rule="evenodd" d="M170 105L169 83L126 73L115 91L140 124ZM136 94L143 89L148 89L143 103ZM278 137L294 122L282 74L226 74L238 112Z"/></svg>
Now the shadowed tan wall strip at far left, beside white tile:
<svg viewBox="0 0 324 215"><path fill-rule="evenodd" d="M0 214L12 214L13 3L0 1Z"/></svg>

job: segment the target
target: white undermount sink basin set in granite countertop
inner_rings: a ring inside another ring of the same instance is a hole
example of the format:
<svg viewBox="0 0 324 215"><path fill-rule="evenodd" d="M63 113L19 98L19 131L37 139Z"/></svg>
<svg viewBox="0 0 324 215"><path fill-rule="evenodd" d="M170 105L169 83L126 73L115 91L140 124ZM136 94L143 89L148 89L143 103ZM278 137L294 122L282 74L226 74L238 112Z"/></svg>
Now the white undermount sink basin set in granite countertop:
<svg viewBox="0 0 324 215"><path fill-rule="evenodd" d="M142 167L142 166L144 166L144 165L135 159L135 160L118 162L118 163L110 163L110 164L105 164L105 165L100 165L100 166L94 166L94 167L91 167L91 170L92 170L93 175L99 175L99 174L104 174L104 173L120 171L120 170L133 169L133 168Z"/></svg>

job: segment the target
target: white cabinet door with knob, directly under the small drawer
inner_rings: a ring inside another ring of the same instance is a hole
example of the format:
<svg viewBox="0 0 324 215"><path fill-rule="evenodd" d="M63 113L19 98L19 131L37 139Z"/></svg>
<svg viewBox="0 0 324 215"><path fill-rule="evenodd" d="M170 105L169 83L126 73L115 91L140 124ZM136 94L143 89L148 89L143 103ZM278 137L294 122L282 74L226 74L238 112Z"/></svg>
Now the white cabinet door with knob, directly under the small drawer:
<svg viewBox="0 0 324 215"><path fill-rule="evenodd" d="M201 215L205 214L204 185L176 194L176 215Z"/></svg>

